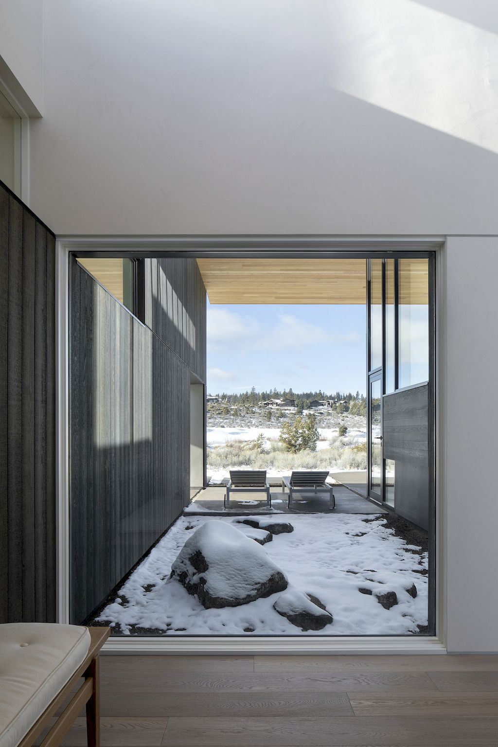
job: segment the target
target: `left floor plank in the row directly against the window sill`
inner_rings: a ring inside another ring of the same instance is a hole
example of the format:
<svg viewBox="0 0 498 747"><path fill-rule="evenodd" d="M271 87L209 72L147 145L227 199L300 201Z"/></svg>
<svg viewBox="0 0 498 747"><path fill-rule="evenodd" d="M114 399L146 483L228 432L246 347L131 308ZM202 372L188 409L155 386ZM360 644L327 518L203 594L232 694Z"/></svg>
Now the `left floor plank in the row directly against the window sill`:
<svg viewBox="0 0 498 747"><path fill-rule="evenodd" d="M133 676L137 669L144 674L158 672L254 672L253 656L102 656L102 676ZM433 669L436 669L433 667Z"/></svg>

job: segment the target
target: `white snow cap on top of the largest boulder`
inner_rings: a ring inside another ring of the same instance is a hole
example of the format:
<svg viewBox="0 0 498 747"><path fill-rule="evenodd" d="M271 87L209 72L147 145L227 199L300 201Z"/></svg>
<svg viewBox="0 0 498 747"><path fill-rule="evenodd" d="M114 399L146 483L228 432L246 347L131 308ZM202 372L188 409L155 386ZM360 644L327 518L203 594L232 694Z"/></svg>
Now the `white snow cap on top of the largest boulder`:
<svg viewBox="0 0 498 747"><path fill-rule="evenodd" d="M188 560L197 551L208 564L208 570L202 574L198 574ZM254 595L258 586L280 570L258 542L224 521L201 524L172 564L172 571L178 576L187 571L195 583L203 577L204 588L211 597L230 600Z"/></svg>

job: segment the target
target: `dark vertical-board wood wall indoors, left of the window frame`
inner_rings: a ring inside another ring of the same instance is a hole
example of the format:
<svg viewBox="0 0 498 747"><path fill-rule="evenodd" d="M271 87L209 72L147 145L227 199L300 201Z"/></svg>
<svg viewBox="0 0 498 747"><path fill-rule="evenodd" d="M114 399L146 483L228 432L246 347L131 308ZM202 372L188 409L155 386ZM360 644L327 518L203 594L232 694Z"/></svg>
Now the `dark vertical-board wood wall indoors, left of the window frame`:
<svg viewBox="0 0 498 747"><path fill-rule="evenodd" d="M0 184L0 622L55 621L55 237Z"/></svg>

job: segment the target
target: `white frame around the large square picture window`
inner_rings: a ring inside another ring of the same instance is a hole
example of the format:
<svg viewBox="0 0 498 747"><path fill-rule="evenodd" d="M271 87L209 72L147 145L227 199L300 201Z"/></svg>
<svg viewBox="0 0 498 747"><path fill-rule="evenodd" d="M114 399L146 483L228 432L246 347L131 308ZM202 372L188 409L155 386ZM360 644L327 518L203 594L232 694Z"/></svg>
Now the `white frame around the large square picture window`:
<svg viewBox="0 0 498 747"><path fill-rule="evenodd" d="M396 252L435 250L435 434L436 434L436 635L435 636L151 636L108 639L114 654L445 654L446 526L444 475L445 236L61 236L56 241L57 329L57 622L69 622L69 253L73 251L198 252L342 251L361 253L392 247Z"/></svg>

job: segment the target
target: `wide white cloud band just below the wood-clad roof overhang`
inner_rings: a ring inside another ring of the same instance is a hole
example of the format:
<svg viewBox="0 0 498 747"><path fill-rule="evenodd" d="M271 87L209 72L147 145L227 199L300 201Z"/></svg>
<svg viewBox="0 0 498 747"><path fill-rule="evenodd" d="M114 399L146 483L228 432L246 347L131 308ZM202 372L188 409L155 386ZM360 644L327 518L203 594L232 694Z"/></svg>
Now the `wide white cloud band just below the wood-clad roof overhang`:
<svg viewBox="0 0 498 747"><path fill-rule="evenodd" d="M273 326L265 326L254 317L227 309L208 309L208 350L301 350L316 344L357 343L357 332L337 334L311 324L293 314L278 314Z"/></svg>

